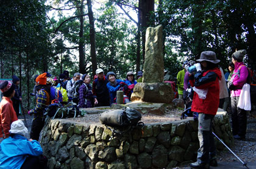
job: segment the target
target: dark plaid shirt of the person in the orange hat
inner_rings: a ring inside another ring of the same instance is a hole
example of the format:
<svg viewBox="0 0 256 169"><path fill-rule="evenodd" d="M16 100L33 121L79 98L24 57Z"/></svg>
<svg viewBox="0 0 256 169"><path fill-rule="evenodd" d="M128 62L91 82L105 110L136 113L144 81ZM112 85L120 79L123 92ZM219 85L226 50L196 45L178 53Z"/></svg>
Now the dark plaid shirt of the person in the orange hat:
<svg viewBox="0 0 256 169"><path fill-rule="evenodd" d="M37 105L35 106L34 109L32 109L30 112L37 114L37 115L43 115L44 113L44 109L46 108L46 93L43 91L43 89L41 89L38 92L38 96L37 96Z"/></svg>

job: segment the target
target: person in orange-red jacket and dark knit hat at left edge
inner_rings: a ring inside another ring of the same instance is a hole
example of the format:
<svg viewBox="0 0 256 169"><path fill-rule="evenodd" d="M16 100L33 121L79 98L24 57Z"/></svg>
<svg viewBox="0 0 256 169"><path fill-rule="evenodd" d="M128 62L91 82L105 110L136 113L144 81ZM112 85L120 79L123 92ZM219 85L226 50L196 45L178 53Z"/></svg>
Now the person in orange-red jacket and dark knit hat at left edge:
<svg viewBox="0 0 256 169"><path fill-rule="evenodd" d="M4 81L0 85L0 90L4 95L0 103L0 138L4 137L6 139L10 135L10 125L18 120L11 100L15 95L15 84L10 81Z"/></svg>

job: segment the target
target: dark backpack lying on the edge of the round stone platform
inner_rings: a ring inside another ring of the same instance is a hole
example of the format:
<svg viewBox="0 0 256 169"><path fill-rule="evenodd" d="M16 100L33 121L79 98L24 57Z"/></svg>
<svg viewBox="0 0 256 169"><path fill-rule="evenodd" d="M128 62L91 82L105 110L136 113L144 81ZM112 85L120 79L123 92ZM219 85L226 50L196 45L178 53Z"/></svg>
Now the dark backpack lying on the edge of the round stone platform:
<svg viewBox="0 0 256 169"><path fill-rule="evenodd" d="M125 127L126 130L119 132L115 129L111 129L113 133L121 134L129 131L132 127L135 127L137 125L140 125L142 122L139 122L141 120L141 114L136 109L131 109L129 107L126 107L124 109L113 109L110 111L102 112L99 116L99 121L106 125L111 126L113 128L121 128Z"/></svg>

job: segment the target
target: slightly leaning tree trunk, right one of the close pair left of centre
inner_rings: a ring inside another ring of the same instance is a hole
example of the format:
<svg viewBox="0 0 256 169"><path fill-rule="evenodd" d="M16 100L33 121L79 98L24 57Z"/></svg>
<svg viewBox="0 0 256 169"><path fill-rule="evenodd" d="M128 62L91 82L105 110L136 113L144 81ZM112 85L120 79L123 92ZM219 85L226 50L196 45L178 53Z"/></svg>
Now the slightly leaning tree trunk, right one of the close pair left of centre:
<svg viewBox="0 0 256 169"><path fill-rule="evenodd" d="M88 16L89 16L89 23L90 23L91 64L93 68L93 77L94 77L97 69L97 60L96 60L94 17L93 17L91 0L87 0L87 5L88 5Z"/></svg>

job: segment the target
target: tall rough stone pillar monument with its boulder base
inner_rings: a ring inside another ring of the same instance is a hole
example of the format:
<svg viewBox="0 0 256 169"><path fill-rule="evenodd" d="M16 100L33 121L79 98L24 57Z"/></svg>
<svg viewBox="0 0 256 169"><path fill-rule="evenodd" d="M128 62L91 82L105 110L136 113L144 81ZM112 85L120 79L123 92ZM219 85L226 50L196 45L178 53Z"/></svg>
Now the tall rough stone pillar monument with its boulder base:
<svg viewBox="0 0 256 169"><path fill-rule="evenodd" d="M148 27L146 30L143 82L133 89L132 101L171 103L174 94L171 84L163 83L163 27Z"/></svg>

